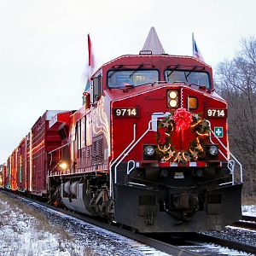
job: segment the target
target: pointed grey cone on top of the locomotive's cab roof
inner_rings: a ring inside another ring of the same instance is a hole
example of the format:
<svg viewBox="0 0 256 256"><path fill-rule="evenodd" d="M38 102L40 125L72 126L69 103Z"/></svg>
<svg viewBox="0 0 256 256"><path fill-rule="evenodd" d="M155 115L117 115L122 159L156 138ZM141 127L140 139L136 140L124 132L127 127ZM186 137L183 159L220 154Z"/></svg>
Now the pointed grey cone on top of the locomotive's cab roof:
<svg viewBox="0 0 256 256"><path fill-rule="evenodd" d="M155 32L154 26L150 28L148 38L146 39L140 55L165 55L166 52L160 43L160 39Z"/></svg>

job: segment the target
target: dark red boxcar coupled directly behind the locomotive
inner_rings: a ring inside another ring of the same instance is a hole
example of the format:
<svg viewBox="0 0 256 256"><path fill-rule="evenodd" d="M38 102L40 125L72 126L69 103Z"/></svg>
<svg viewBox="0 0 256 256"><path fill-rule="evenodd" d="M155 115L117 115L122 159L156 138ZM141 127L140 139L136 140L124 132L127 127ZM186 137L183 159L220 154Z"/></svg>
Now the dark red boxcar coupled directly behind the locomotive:
<svg viewBox="0 0 256 256"><path fill-rule="evenodd" d="M26 137L24 150L27 157L23 176L26 177L28 193L31 195L43 198L49 195L47 176L52 159L47 156L50 151L61 146L61 128L69 124L70 114L68 111L47 110Z"/></svg>

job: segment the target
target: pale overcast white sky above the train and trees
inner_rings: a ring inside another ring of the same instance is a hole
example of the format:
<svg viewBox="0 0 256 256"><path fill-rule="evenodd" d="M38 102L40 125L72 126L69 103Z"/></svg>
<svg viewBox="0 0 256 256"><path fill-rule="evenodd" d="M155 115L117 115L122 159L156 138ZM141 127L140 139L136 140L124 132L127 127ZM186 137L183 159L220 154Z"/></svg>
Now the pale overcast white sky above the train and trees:
<svg viewBox="0 0 256 256"><path fill-rule="evenodd" d="M0 0L0 164L46 109L78 109L87 33L97 67L143 48L151 26L166 53L213 68L255 36L255 0Z"/></svg>

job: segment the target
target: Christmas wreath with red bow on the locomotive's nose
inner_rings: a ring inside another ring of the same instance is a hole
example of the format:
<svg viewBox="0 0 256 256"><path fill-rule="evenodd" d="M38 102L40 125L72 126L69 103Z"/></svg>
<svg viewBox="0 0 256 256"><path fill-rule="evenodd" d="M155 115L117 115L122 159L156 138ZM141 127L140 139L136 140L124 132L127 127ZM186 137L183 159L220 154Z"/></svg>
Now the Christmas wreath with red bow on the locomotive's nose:
<svg viewBox="0 0 256 256"><path fill-rule="evenodd" d="M177 150L172 143L172 134L183 136L183 131L191 129L195 139L185 150ZM185 108L178 108L165 119L158 122L157 154L162 162L187 163L206 156L206 145L210 143L209 122L197 113L190 113Z"/></svg>

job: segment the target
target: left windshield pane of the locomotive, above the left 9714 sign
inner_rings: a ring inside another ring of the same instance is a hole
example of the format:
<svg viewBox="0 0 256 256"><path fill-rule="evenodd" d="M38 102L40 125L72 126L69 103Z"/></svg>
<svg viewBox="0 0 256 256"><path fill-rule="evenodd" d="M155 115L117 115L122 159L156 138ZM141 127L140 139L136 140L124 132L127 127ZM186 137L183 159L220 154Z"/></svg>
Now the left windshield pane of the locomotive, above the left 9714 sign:
<svg viewBox="0 0 256 256"><path fill-rule="evenodd" d="M108 72L108 87L122 88L127 85L139 86L159 80L157 70L111 70Z"/></svg>

